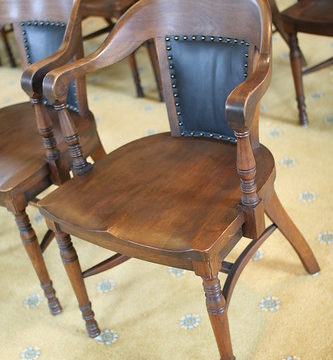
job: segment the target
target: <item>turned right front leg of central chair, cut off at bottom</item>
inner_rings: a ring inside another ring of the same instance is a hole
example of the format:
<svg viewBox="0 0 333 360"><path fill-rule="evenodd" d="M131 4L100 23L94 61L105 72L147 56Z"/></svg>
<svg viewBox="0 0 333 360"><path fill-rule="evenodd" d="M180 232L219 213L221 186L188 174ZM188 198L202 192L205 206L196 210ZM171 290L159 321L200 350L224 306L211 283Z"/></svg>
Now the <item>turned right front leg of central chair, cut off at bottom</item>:
<svg viewBox="0 0 333 360"><path fill-rule="evenodd" d="M202 277L206 295L206 306L214 331L221 360L235 359L232 353L231 338L225 299L217 274L212 277Z"/></svg>

